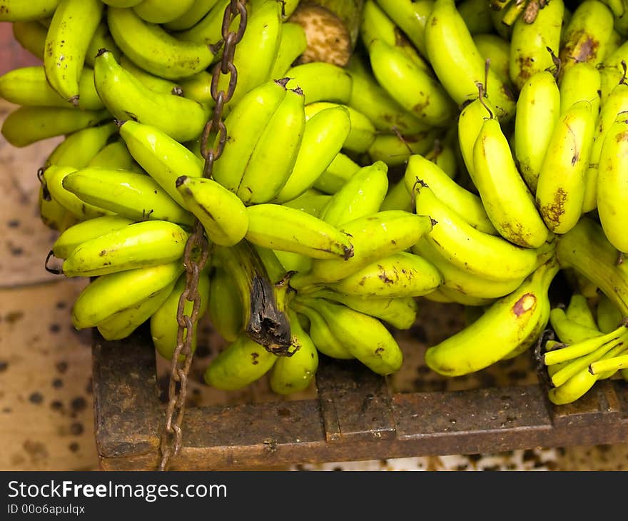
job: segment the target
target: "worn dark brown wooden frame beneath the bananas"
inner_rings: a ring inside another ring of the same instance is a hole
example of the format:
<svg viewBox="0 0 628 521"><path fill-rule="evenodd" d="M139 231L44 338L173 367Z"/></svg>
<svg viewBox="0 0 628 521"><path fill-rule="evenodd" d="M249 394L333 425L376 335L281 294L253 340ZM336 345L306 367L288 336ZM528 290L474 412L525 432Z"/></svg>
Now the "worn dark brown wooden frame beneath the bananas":
<svg viewBox="0 0 628 521"><path fill-rule="evenodd" d="M532 353L523 356L532 357ZM532 364L533 366L534 364ZM461 455L628 441L628 383L603 380L576 403L525 385L395 392L390 378L321 356L315 398L188 407L173 470ZM154 470L165 405L145 329L93 334L96 444L103 470Z"/></svg>

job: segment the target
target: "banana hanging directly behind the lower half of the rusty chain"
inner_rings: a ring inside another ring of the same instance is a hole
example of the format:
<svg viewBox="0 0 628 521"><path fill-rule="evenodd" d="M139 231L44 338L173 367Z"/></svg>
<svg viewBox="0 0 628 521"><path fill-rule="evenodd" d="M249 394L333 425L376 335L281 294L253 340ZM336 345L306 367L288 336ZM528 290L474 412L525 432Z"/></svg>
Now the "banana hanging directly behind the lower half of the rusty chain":
<svg viewBox="0 0 628 521"><path fill-rule="evenodd" d="M150 327L151 338L153 339L153 345L157 353L159 353L166 360L172 360L173 353L177 347L178 341L178 318L177 312L179 308L179 300L181 299L181 293L186 289L186 273L179 275L176 279L176 285L173 290L163 301L161 306L151 314ZM198 284L196 286L198 295L200 298L198 305L198 313L196 315L196 321L192 324L192 339L191 339L191 352L196 350L197 341L197 329L198 321L205 315L209 295L211 293L211 280L208 275L208 271L203 269L198 275ZM188 317L192 316L194 307L193 300L185 301L183 305L183 313ZM187 338L187 331L183 330L181 340L185 341ZM180 355L179 360L185 360L185 357Z"/></svg>

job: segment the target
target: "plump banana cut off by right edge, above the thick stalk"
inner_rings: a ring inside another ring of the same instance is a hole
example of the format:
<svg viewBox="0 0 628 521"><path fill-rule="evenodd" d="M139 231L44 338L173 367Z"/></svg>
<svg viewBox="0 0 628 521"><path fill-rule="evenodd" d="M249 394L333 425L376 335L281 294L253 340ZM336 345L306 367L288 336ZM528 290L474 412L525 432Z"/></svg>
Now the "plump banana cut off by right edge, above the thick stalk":
<svg viewBox="0 0 628 521"><path fill-rule="evenodd" d="M628 251L623 231L628 190L624 161L628 157L628 113L620 113L604 136L597 174L597 214L604 235L621 252Z"/></svg>

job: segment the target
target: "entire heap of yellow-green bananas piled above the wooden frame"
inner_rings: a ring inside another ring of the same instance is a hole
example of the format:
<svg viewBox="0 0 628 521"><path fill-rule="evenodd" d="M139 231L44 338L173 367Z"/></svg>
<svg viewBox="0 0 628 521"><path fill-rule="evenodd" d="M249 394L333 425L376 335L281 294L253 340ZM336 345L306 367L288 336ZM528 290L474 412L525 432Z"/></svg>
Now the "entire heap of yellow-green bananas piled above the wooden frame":
<svg viewBox="0 0 628 521"><path fill-rule="evenodd" d="M627 0L365 0L346 66L301 59L298 0L250 0L206 178L229 3L4 1L43 64L0 77L19 105L1 133L64 136L39 211L56 271L93 277L76 328L120 339L148 322L171 358L198 219L198 318L229 343L206 369L216 388L268 373L276 393L304 390L318 353L394 373L394 330L432 300L479 311L427 349L442 375L537 345L554 403L628 377ZM566 309L550 300L559 272ZM260 340L259 298L288 350Z"/></svg>

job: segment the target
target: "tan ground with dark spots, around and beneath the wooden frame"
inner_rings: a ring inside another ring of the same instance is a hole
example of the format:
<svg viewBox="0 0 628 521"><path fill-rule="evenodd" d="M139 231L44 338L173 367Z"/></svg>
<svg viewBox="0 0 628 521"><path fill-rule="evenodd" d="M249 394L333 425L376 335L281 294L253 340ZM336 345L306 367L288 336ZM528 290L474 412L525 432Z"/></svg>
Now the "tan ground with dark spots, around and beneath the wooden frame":
<svg viewBox="0 0 628 521"><path fill-rule="evenodd" d="M0 118L13 108L0 102ZM16 149L0 138L0 470L97 470L93 437L88 332L71 326L71 305L85 284L44 270L56 237L37 213L36 168L58 139ZM399 335L405 364L390 379L394 391L479 388L536 381L522 355L475 375L444 379L422 364L425 345L462 327L461 308L424 303L415 328ZM211 345L211 348L208 346ZM191 373L188 406L313 398L270 392L265 379L238 392L208 388L201 375L223 343L208 323ZM166 388L168 363L158 360ZM165 393L163 395L165 398ZM285 470L628 470L628 444L520 450L497 454L407 457L293 465Z"/></svg>

